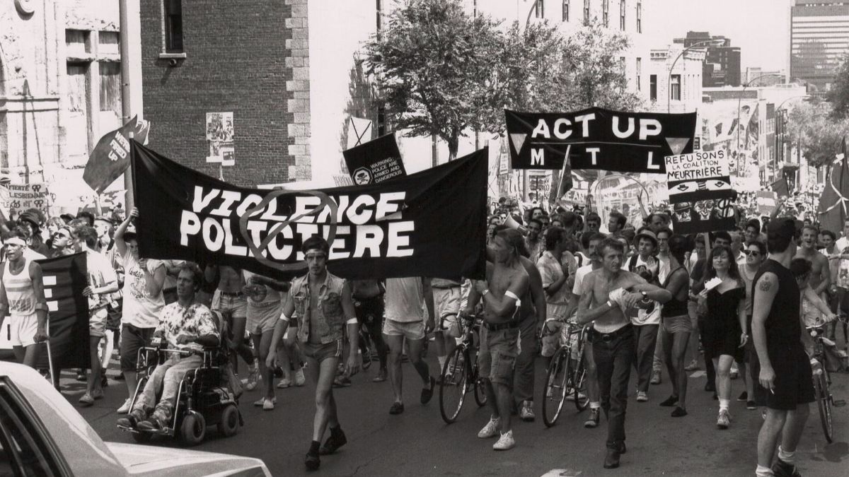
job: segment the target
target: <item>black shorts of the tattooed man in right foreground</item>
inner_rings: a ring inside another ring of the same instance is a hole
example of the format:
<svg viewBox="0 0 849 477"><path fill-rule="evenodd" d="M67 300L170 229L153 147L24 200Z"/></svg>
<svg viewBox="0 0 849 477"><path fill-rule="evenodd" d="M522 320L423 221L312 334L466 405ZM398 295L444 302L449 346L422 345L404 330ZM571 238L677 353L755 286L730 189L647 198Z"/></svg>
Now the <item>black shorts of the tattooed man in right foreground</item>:
<svg viewBox="0 0 849 477"><path fill-rule="evenodd" d="M794 411L799 404L815 400L811 361L801 343L793 346L768 346L767 354L775 371L773 392L766 390L765 404L770 409Z"/></svg>

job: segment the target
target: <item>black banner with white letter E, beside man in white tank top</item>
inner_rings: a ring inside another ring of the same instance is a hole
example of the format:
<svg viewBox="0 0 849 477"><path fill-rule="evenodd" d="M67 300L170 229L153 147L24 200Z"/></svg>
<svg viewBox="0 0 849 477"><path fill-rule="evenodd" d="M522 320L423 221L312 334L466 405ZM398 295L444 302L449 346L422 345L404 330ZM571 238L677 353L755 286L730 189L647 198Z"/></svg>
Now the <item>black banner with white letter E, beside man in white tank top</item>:
<svg viewBox="0 0 849 477"><path fill-rule="evenodd" d="M50 311L50 352L60 369L91 368L88 354L88 286L85 252L38 260L44 295ZM9 318L7 318L9 319ZM41 345L38 368L48 368L48 352Z"/></svg>

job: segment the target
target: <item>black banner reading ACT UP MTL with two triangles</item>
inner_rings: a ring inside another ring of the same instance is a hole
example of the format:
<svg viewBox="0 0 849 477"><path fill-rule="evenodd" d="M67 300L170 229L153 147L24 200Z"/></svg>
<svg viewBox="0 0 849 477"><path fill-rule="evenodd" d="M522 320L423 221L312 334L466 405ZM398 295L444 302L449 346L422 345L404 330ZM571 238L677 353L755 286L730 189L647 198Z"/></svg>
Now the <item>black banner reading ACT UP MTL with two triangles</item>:
<svg viewBox="0 0 849 477"><path fill-rule="evenodd" d="M664 173L667 155L693 152L695 113L627 113L590 108L571 113L505 109L514 169Z"/></svg>

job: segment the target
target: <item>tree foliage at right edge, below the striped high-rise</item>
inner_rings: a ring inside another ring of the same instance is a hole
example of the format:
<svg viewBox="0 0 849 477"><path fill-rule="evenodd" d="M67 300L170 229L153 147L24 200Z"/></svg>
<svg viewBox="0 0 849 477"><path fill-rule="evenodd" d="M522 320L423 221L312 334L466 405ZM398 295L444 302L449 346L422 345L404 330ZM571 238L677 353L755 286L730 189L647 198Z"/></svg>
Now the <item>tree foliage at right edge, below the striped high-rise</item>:
<svg viewBox="0 0 849 477"><path fill-rule="evenodd" d="M801 103L790 111L787 133L801 145L802 154L812 166L828 164L841 152L843 137L849 133L849 119L836 119L826 103Z"/></svg>

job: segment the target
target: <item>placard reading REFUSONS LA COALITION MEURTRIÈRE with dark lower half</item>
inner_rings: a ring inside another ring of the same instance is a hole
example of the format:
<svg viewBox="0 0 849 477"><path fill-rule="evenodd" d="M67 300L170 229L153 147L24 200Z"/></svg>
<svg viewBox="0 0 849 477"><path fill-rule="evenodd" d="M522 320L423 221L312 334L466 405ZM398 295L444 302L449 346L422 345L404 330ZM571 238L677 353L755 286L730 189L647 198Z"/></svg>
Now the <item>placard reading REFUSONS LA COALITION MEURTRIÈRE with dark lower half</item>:
<svg viewBox="0 0 849 477"><path fill-rule="evenodd" d="M666 156L666 187L676 233L734 228L734 199L728 154L710 151Z"/></svg>

